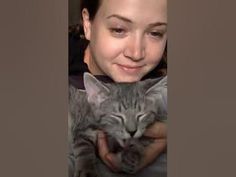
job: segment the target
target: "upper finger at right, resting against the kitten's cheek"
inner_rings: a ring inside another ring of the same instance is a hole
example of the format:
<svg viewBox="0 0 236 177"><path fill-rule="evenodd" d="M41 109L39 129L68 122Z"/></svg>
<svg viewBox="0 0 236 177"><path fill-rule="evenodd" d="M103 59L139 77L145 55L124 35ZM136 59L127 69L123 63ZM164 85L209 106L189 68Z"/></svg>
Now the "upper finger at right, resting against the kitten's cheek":
<svg viewBox="0 0 236 177"><path fill-rule="evenodd" d="M167 138L167 125L164 122L155 122L144 132L144 135L152 138L165 139Z"/></svg>

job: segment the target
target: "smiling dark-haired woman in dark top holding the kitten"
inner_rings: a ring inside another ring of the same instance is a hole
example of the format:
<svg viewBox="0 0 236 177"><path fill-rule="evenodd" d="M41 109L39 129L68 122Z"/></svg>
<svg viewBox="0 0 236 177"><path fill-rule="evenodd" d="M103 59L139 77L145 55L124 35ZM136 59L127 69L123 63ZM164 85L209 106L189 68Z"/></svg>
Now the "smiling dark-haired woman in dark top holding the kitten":
<svg viewBox="0 0 236 177"><path fill-rule="evenodd" d="M70 51L71 60L74 57L80 60L80 70L76 72L77 76L70 77L70 82L82 88L84 71L101 80L115 82L157 77L166 51L166 11L167 0L82 0L83 31L89 42L77 46L82 47L79 55L83 58L77 58L78 54L71 55ZM75 71L70 70L70 74L73 73ZM164 123L156 123L146 131L146 135L156 141L146 148L140 170L165 151L166 134ZM116 171L115 155L109 152L105 135L101 132L98 138L101 159ZM156 165L151 166L155 169Z"/></svg>

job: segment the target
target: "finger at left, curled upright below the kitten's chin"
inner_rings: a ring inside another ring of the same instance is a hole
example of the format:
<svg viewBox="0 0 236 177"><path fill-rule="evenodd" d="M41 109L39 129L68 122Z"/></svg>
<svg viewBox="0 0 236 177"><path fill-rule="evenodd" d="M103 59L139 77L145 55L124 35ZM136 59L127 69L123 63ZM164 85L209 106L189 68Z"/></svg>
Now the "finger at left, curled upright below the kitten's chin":
<svg viewBox="0 0 236 177"><path fill-rule="evenodd" d="M113 171L117 171L117 159L115 154L109 151L106 136L103 132L98 133L98 152L102 161Z"/></svg>

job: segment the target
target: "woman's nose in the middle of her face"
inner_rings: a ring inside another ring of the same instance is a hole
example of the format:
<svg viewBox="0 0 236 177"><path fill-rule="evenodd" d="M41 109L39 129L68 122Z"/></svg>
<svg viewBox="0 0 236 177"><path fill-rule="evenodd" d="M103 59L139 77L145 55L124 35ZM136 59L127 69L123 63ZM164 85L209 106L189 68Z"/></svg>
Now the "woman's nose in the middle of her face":
<svg viewBox="0 0 236 177"><path fill-rule="evenodd" d="M140 61L145 58L145 44L141 37L130 38L124 50L125 57Z"/></svg>

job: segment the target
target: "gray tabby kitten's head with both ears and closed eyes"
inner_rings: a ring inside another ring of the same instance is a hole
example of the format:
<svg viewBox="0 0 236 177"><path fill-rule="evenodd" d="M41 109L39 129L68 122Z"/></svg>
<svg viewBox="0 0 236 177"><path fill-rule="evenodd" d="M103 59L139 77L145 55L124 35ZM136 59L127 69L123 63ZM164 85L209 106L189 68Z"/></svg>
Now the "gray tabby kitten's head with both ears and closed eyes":
<svg viewBox="0 0 236 177"><path fill-rule="evenodd" d="M121 144L141 137L166 109L162 95L166 81L153 82L104 84L90 75L85 77L88 102L101 129Z"/></svg>

